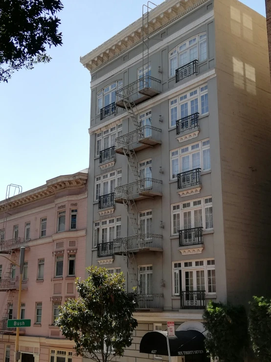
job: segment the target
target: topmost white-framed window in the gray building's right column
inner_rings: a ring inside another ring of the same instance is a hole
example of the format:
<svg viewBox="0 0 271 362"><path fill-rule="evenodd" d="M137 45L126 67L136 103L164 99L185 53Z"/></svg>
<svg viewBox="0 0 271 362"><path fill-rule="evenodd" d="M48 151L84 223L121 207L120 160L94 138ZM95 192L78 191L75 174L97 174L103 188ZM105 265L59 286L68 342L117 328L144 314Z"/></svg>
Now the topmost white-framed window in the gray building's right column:
<svg viewBox="0 0 271 362"><path fill-rule="evenodd" d="M198 59L199 62L207 59L206 33L187 39L169 52L169 76L175 76L176 69L195 59Z"/></svg>

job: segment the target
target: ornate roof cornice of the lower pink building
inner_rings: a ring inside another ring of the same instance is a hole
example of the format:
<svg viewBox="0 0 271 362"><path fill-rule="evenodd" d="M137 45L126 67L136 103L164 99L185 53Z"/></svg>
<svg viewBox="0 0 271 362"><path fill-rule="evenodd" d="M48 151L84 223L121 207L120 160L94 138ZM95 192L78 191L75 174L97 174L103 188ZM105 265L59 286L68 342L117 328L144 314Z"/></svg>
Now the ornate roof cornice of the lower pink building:
<svg viewBox="0 0 271 362"><path fill-rule="evenodd" d="M43 200L54 196L56 193L65 189L75 189L84 187L87 183L88 173L77 172L72 175L63 175L46 181L46 184L36 189L20 193L10 197L8 203L6 200L0 201L0 212L12 210L14 208L29 204L34 201Z"/></svg>

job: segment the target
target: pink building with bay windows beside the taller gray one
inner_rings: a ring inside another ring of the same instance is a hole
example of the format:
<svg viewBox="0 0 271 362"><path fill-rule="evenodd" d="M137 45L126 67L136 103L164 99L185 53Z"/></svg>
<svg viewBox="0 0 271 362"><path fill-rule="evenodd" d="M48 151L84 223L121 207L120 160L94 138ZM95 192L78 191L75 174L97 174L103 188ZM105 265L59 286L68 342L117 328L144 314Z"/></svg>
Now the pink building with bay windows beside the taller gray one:
<svg viewBox="0 0 271 362"><path fill-rule="evenodd" d="M54 320L59 306L75 298L74 280L85 277L88 169L58 176L0 202L0 361L13 362L20 247L25 247L20 328L22 362L74 362L73 343Z"/></svg>

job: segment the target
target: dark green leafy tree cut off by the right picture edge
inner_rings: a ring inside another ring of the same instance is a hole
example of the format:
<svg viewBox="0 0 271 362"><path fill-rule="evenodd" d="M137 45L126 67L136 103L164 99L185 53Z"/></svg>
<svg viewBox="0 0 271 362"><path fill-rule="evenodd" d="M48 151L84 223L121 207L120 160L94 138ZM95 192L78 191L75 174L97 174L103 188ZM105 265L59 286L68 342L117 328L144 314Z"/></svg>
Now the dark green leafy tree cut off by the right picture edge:
<svg viewBox="0 0 271 362"><path fill-rule="evenodd" d="M252 348L262 362L271 362L271 299L253 297L248 313Z"/></svg>

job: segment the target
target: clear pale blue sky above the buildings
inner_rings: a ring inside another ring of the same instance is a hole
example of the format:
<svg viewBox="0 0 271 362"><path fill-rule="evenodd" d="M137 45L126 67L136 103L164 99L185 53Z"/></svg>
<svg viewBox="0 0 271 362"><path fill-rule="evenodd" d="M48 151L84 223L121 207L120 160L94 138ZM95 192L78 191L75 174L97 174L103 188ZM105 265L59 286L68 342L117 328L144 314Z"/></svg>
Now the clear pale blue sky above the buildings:
<svg viewBox="0 0 271 362"><path fill-rule="evenodd" d="M27 191L88 167L90 73L79 57L138 19L146 2L63 0L63 46L49 49L51 62L0 83L0 200L10 183ZM242 2L265 15L264 0Z"/></svg>

